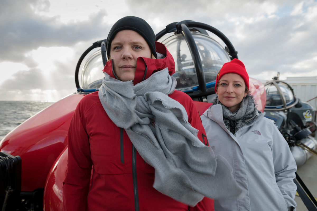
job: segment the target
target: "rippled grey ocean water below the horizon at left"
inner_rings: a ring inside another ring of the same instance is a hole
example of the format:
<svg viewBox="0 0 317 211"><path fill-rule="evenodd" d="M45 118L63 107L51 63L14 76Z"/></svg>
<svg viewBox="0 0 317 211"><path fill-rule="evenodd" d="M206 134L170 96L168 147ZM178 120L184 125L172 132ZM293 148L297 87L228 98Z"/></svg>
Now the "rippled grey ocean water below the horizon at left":
<svg viewBox="0 0 317 211"><path fill-rule="evenodd" d="M23 121L54 102L0 101L0 140Z"/></svg>

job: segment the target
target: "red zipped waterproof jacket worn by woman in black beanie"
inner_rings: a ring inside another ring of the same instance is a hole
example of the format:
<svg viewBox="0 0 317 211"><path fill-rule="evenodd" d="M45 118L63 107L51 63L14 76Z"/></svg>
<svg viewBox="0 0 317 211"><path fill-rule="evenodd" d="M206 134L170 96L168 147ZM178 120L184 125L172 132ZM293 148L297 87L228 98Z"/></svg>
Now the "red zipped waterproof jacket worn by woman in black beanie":
<svg viewBox="0 0 317 211"><path fill-rule="evenodd" d="M166 67L173 74L174 60L165 46L156 42L156 51L164 59L137 60L134 83ZM111 61L105 69L113 76ZM191 98L175 90L172 99L187 111L189 123L199 130L198 138L209 145L197 109ZM92 185L89 187L93 167ZM135 150L123 128L108 117L98 92L83 97L77 105L68 130L68 166L63 182L64 210L188 210L186 204L175 201L152 187L154 168ZM214 210L213 200L204 197L190 210Z"/></svg>

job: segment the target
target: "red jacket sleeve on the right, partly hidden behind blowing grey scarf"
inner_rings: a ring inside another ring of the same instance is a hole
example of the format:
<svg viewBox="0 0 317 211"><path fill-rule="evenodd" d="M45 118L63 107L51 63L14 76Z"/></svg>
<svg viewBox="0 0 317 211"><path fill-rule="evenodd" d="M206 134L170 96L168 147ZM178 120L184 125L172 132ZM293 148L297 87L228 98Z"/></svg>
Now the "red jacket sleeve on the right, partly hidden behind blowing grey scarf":
<svg viewBox="0 0 317 211"><path fill-rule="evenodd" d="M187 108L185 108L187 110ZM190 110L187 110L188 122L192 127L198 130L198 139L202 141L206 146L209 146L206 132L201 122L198 110L196 109L194 103L191 102ZM195 207L191 207L190 211L214 211L214 200L204 197L202 201L198 202Z"/></svg>

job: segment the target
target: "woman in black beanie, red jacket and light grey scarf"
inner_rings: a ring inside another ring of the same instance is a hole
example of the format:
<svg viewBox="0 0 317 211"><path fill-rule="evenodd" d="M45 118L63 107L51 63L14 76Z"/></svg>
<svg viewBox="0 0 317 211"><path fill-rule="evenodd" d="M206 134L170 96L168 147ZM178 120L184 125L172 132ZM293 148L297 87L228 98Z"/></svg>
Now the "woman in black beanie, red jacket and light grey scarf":
<svg viewBox="0 0 317 211"><path fill-rule="evenodd" d="M171 54L133 16L106 46L103 84L70 123L64 210L213 210L192 171L215 174L215 158L191 98L175 90Z"/></svg>

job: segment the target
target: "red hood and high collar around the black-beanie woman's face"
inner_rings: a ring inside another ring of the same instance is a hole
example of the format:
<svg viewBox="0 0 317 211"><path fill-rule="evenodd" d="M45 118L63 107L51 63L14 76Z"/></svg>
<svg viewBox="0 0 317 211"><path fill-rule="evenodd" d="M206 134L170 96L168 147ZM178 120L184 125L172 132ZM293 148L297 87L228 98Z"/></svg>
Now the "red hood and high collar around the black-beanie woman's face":
<svg viewBox="0 0 317 211"><path fill-rule="evenodd" d="M143 80L149 78L153 73L168 68L168 73L173 75L175 73L175 62L171 53L167 50L165 45L155 41L156 52L166 55L163 59L150 59L139 57L137 59L137 66L133 84L138 84ZM106 72L110 77L116 78L113 74L112 60L107 61L103 72Z"/></svg>

